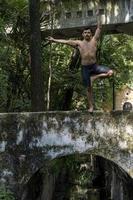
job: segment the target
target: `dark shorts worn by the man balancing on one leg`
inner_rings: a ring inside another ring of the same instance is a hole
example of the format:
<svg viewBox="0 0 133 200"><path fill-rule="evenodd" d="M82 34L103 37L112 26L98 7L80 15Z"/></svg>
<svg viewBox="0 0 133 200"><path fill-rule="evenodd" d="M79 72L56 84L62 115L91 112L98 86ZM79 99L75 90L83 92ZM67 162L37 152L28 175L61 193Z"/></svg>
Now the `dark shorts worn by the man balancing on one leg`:
<svg viewBox="0 0 133 200"><path fill-rule="evenodd" d="M91 65L82 65L82 79L83 79L83 85L85 87L90 87L91 86L91 80L90 77L97 75L97 74L102 74L102 73L108 73L110 68L102 66L102 65L97 65L91 64Z"/></svg>

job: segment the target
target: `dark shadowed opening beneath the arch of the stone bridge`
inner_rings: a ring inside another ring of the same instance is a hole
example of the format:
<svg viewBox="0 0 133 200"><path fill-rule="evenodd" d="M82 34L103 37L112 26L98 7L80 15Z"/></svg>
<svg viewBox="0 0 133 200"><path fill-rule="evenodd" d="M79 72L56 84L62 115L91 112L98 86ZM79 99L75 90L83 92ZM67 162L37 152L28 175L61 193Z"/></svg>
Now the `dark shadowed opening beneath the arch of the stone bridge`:
<svg viewBox="0 0 133 200"><path fill-rule="evenodd" d="M21 200L132 200L133 180L112 161L90 154L54 159L34 174Z"/></svg>

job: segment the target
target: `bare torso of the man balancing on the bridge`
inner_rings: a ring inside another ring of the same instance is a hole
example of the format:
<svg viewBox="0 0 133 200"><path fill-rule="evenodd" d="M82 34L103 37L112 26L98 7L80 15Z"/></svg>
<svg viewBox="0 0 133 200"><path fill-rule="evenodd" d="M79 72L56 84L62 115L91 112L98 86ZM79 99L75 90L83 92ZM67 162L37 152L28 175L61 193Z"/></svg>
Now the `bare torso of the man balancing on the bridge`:
<svg viewBox="0 0 133 200"><path fill-rule="evenodd" d="M78 49L80 51L82 65L96 63L97 41L94 38L90 41L79 41Z"/></svg>

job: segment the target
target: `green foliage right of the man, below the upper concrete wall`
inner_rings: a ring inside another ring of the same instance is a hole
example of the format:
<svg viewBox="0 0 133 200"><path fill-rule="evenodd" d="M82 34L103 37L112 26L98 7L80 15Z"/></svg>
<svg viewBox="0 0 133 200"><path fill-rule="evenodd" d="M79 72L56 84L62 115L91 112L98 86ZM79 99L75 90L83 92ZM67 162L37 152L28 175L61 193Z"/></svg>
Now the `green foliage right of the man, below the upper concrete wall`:
<svg viewBox="0 0 133 200"><path fill-rule="evenodd" d="M130 82L133 73L132 51L132 36L119 34L104 37L100 61L114 69L117 88Z"/></svg>

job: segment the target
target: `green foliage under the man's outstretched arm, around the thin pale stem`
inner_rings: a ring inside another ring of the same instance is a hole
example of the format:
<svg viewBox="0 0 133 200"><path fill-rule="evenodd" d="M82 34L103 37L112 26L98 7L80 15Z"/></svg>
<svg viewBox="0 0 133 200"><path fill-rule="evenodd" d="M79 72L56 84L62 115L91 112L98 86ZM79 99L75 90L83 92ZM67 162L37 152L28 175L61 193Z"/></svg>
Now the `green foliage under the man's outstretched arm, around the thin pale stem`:
<svg viewBox="0 0 133 200"><path fill-rule="evenodd" d="M60 110L62 98L64 96L64 90L72 85L72 79L68 70L72 49L65 45L52 45L52 83L51 83L51 109ZM44 80L45 89L48 85L49 76L49 57L50 48L49 46L44 49L42 58L44 66ZM58 98L57 98L58 96ZM55 97L55 98L53 98Z"/></svg>

